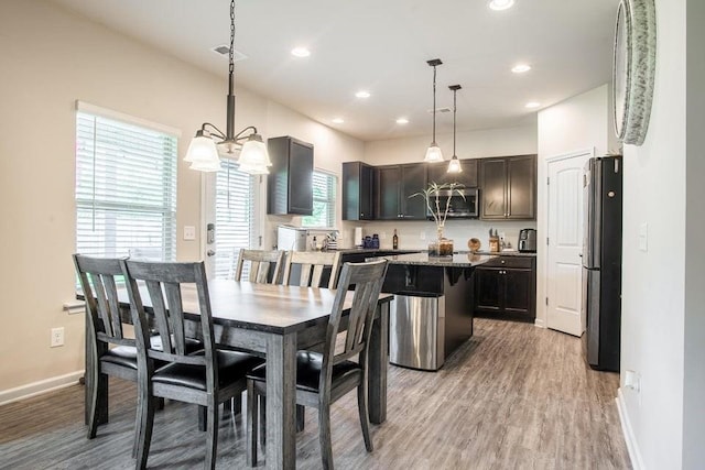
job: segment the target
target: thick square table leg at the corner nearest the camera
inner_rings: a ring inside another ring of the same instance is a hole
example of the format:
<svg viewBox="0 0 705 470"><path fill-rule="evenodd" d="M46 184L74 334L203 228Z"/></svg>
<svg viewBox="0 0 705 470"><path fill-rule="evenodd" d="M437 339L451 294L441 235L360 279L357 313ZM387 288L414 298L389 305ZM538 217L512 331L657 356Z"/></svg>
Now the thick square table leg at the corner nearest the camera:
<svg viewBox="0 0 705 470"><path fill-rule="evenodd" d="M296 335L267 341L267 468L296 468Z"/></svg>

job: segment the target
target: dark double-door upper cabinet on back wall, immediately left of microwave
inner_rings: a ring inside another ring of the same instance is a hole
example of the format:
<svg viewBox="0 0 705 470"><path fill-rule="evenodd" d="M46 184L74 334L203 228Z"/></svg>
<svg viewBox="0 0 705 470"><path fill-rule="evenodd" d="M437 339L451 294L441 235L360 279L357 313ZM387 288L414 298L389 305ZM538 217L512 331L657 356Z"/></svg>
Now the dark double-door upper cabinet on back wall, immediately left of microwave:
<svg viewBox="0 0 705 470"><path fill-rule="evenodd" d="M423 163L375 167L376 219L424 220L426 206L423 197L411 197L426 187L426 167Z"/></svg>

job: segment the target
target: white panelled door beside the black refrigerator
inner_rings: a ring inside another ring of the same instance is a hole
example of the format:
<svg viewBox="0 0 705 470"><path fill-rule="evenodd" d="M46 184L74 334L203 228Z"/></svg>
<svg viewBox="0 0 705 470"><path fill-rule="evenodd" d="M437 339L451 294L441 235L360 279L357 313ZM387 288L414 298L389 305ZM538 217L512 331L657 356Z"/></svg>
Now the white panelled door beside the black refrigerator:
<svg viewBox="0 0 705 470"><path fill-rule="evenodd" d="M583 306L583 168L593 151L550 159L546 326L585 331Z"/></svg>

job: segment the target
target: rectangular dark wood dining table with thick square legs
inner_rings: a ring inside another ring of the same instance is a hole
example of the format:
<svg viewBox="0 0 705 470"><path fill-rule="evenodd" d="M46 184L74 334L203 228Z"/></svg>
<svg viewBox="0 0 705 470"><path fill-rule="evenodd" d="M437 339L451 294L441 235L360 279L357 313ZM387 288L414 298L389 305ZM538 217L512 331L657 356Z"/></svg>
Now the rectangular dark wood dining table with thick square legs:
<svg viewBox="0 0 705 470"><path fill-rule="evenodd" d="M325 341L335 289L257 284L245 281L208 282L216 342L223 347L252 351L267 360L267 440L268 469L296 467L296 351ZM127 289L118 292L124 321L131 323ZM149 296L142 296L149 313ZM198 336L198 303L195 287L182 287L187 335ZM344 305L340 329L346 327L345 310L351 305L352 291ZM368 401L371 423L387 419L387 370L389 363L389 304L393 296L380 294L368 353ZM87 328L87 335L89 328ZM89 371L94 360L86 347L86 390L96 380ZM107 422L107 381L98 380L98 420ZM86 402L88 403L88 402ZM88 411L86 409L86 413Z"/></svg>

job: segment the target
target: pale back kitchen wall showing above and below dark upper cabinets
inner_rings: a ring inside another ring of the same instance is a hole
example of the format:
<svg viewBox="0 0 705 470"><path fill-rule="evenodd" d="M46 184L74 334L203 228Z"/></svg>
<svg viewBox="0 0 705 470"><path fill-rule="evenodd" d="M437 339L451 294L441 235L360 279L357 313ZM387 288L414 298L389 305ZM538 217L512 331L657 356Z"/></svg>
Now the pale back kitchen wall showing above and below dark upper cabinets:
<svg viewBox="0 0 705 470"><path fill-rule="evenodd" d="M436 141L449 159L453 155L453 134L438 134ZM409 139L392 139L386 141L367 142L365 144L365 161L371 165L389 165L399 163L416 163L423 161L431 136ZM488 156L520 155L536 153L536 128L524 125L508 129L492 129L474 132L458 132L456 150L459 159L481 159ZM378 233L381 248L392 248L392 233L397 229L400 249L426 249L429 241L435 239L436 229L432 221L375 221L359 222L364 236ZM351 244L352 227L346 226L348 245ZM489 249L489 228L506 233L506 240L517 247L519 230L535 228L533 220L529 221L481 221L481 220L448 220L445 236L455 241L456 250L467 250L470 238L479 238L482 249Z"/></svg>

